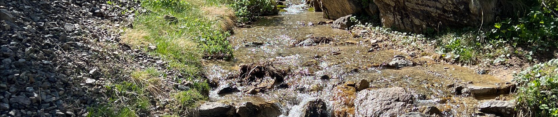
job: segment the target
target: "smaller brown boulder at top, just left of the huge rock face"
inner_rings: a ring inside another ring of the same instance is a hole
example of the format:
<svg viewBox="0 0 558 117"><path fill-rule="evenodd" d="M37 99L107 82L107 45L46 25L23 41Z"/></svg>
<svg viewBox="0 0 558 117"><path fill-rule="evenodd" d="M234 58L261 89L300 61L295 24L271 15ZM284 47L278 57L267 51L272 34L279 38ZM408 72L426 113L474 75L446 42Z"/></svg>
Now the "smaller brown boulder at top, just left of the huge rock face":
<svg viewBox="0 0 558 117"><path fill-rule="evenodd" d="M349 14L363 11L360 0L327 0L321 1L324 18L338 19Z"/></svg>

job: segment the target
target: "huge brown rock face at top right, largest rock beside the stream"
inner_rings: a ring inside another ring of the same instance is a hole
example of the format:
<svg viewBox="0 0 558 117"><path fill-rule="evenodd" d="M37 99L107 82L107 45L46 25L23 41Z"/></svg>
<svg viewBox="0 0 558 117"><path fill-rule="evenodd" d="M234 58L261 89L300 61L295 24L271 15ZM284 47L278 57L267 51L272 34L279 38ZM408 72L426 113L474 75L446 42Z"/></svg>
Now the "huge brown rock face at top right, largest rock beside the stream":
<svg viewBox="0 0 558 117"><path fill-rule="evenodd" d="M374 0L374 3L378 6L384 27L414 33L423 33L427 28L478 26L481 22L488 24L497 14L494 11L498 11L497 0Z"/></svg>

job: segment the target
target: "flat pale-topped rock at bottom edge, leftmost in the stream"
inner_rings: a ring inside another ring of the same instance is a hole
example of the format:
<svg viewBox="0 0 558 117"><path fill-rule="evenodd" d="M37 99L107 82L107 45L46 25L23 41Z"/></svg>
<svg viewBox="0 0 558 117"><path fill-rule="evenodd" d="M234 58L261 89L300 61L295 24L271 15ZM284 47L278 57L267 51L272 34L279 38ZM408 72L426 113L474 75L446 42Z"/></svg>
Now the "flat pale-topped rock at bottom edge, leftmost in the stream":
<svg viewBox="0 0 558 117"><path fill-rule="evenodd" d="M199 113L207 117L234 116L236 109L225 103L205 102L200 105Z"/></svg>

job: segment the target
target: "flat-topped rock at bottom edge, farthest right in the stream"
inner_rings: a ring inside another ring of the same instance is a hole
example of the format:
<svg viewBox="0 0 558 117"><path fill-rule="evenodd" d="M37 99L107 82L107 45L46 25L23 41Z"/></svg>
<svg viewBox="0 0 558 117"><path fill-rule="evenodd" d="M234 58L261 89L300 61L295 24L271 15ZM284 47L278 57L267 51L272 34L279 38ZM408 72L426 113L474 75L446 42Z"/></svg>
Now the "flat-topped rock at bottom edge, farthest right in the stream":
<svg viewBox="0 0 558 117"><path fill-rule="evenodd" d="M485 101L479 105L479 111L486 114L495 114L502 117L511 117L515 115L514 101L500 101L500 100L490 100Z"/></svg>

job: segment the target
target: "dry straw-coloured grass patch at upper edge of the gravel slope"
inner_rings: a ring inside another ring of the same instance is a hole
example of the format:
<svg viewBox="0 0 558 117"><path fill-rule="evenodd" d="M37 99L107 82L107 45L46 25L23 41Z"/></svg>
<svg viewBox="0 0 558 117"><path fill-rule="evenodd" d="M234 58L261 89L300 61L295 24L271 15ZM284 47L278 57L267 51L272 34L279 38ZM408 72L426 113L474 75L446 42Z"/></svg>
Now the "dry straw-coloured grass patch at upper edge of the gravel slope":
<svg viewBox="0 0 558 117"><path fill-rule="evenodd" d="M130 44L132 47L151 44L148 38L149 32L140 28L126 29L122 35L121 43Z"/></svg>

